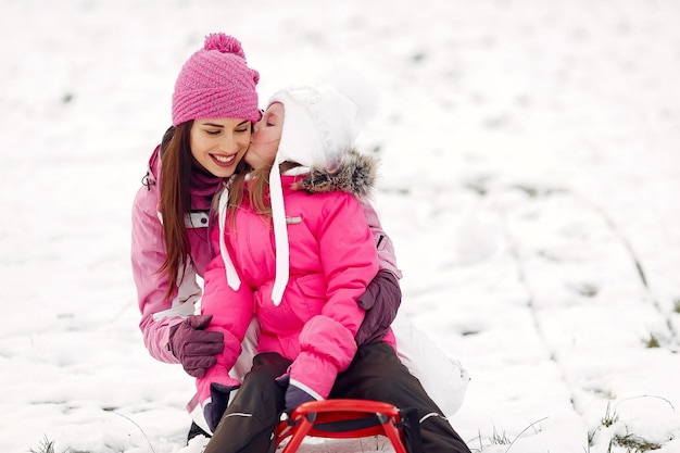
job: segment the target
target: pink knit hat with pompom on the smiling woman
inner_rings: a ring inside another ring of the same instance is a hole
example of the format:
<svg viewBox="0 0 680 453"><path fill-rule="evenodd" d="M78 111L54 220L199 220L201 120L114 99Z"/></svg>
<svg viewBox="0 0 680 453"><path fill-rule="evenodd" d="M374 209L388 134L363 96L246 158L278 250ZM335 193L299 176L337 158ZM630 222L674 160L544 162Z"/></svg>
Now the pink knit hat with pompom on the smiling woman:
<svg viewBox="0 0 680 453"><path fill-rule="evenodd" d="M260 121L260 73L245 64L241 42L224 33L205 37L184 64L173 93L173 126L199 118Z"/></svg>

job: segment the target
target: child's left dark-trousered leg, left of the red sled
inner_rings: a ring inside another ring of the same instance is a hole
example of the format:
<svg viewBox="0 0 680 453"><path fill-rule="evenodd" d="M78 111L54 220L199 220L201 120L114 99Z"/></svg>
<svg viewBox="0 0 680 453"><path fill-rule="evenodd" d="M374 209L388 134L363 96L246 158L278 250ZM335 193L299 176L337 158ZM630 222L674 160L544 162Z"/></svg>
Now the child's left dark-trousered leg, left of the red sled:
<svg viewBox="0 0 680 453"><path fill-rule="evenodd" d="M290 361L277 353L257 354L234 401L204 453L265 453L273 451L273 432L285 406L286 389L274 379L288 369Z"/></svg>

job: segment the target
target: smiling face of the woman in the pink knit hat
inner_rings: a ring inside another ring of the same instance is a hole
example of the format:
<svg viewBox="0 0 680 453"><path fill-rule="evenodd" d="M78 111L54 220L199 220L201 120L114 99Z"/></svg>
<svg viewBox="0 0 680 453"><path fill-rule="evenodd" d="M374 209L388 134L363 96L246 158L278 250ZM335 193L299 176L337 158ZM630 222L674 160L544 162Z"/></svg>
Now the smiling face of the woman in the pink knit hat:
<svg viewBox="0 0 680 453"><path fill-rule="evenodd" d="M250 144L251 123L239 118L194 119L189 131L191 154L213 175L234 174Z"/></svg>

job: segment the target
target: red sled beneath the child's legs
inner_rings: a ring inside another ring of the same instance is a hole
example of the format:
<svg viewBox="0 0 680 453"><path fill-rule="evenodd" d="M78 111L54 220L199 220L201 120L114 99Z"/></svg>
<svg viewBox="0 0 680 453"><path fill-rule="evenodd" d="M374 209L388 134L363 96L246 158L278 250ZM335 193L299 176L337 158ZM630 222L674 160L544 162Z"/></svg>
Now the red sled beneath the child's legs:
<svg viewBox="0 0 680 453"><path fill-rule="evenodd" d="M290 438L281 453L293 453L305 437L356 439L386 436L395 453L406 453L400 411L370 400L325 400L300 404L276 429L276 446Z"/></svg>

